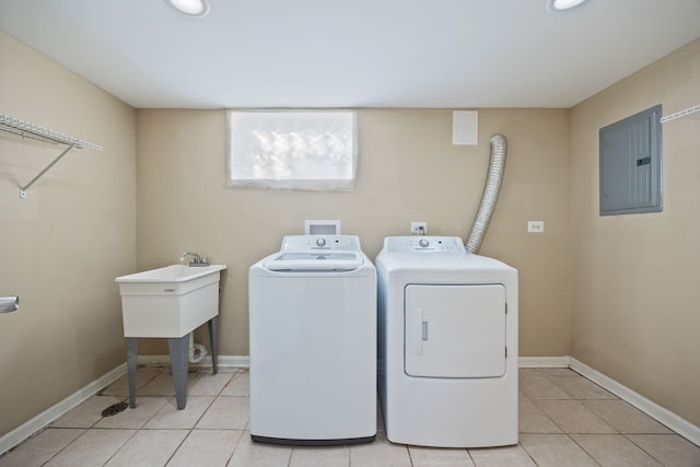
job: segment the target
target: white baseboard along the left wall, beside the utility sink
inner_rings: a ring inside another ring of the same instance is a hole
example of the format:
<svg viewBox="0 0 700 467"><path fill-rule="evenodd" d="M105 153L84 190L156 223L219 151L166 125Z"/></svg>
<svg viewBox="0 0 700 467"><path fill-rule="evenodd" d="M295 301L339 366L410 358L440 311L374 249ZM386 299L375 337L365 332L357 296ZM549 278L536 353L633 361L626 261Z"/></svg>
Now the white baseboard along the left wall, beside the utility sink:
<svg viewBox="0 0 700 467"><path fill-rule="evenodd" d="M78 389L75 393L71 394L58 404L55 404L54 406L44 410L38 416L26 421L11 432L4 434L2 437L0 437L0 455L7 453L27 437L32 436L34 433L48 425L50 422L58 419L60 416L62 416L73 407L78 406L83 400L88 399L94 394L97 394L103 387L112 384L112 382L117 380L126 372L127 364L122 363L107 374L93 381L89 385Z"/></svg>

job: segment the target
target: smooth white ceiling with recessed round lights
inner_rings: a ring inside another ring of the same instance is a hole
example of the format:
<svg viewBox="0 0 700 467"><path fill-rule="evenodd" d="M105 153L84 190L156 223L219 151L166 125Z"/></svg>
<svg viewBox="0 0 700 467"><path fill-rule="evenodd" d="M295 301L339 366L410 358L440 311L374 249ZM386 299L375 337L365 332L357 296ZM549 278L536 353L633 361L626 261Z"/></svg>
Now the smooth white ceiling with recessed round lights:
<svg viewBox="0 0 700 467"><path fill-rule="evenodd" d="M700 37L700 0L209 2L0 0L0 28L138 108L571 107Z"/></svg>

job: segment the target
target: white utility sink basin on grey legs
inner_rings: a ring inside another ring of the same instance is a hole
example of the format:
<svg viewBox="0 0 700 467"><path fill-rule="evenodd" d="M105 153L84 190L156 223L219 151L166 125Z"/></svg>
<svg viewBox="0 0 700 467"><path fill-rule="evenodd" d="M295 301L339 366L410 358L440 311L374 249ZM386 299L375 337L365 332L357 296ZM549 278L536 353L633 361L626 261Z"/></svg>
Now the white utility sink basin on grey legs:
<svg viewBox="0 0 700 467"><path fill-rule="evenodd" d="M116 278L125 337L183 337L219 314L226 265L172 265Z"/></svg>

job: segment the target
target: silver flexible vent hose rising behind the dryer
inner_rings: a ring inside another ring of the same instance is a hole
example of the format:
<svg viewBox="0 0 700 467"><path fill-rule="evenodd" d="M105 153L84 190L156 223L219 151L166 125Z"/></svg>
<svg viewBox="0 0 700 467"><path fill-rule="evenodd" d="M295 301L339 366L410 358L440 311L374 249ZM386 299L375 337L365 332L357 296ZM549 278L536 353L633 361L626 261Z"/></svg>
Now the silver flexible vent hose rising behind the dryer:
<svg viewBox="0 0 700 467"><path fill-rule="evenodd" d="M503 135L493 135L491 137L491 162L489 164L489 174L481 195L481 205L474 220L471 233L465 247L467 253L479 253L481 242L486 235L491 221L491 214L495 209L495 202L499 200L499 191L501 191L501 180L503 180L503 171L505 170L505 153L508 142Z"/></svg>

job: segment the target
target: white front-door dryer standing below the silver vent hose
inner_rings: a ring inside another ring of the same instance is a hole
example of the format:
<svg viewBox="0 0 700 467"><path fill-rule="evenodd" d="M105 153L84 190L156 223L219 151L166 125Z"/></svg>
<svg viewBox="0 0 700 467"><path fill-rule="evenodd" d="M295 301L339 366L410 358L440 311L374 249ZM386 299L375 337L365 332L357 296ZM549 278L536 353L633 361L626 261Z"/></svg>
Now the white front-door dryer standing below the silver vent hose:
<svg viewBox="0 0 700 467"><path fill-rule="evenodd" d="M517 443L517 271L458 237L387 237L376 258L386 437Z"/></svg>

